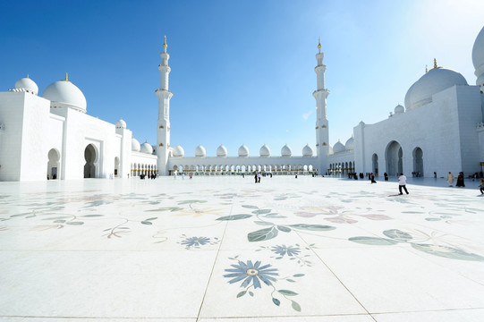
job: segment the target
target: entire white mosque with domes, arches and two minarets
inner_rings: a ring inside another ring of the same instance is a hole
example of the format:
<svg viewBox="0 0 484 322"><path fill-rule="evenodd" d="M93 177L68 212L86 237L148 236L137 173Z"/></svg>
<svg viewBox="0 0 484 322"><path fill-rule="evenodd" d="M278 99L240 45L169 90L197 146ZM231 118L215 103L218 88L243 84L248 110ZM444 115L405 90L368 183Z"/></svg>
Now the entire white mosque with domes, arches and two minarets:
<svg viewBox="0 0 484 322"><path fill-rule="evenodd" d="M267 145L250 157L242 144L238 157L228 157L221 145L215 157L203 146L195 157L184 157L181 146L170 146L168 65L162 63L158 97L157 144L140 144L126 123L107 123L87 114L86 98L67 74L38 96L27 76L14 89L0 92L0 181L38 181L140 176L141 174L346 174L389 175L419 173L444 176L448 171L480 173L484 165L484 28L472 49L476 86L459 72L437 66L408 89L405 106L375 124L359 123L352 137L334 147L328 144L326 65L318 44L316 55L316 155L310 145L293 156L284 145L280 156Z"/></svg>

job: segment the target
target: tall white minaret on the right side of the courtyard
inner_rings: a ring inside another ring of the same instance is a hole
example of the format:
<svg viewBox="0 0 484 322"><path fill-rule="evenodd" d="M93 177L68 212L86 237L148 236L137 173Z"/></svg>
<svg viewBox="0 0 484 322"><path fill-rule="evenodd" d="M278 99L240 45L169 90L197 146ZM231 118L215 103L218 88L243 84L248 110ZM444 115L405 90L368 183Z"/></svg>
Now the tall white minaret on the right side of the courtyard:
<svg viewBox="0 0 484 322"><path fill-rule="evenodd" d="M327 111L326 98L329 90L325 89L325 72L326 65L323 64L324 54L321 53L321 40L318 41L318 54L316 61L318 65L314 68L317 75L318 87L312 93L316 98L316 151L318 155L318 172L324 174L327 172L327 154L329 151L329 134L327 129Z"/></svg>

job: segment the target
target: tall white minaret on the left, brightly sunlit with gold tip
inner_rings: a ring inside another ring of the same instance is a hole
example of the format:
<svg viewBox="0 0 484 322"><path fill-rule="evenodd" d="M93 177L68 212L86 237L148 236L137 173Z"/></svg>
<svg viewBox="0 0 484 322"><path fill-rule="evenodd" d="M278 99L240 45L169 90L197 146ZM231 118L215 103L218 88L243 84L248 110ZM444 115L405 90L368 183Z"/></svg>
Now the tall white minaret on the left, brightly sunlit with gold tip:
<svg viewBox="0 0 484 322"><path fill-rule="evenodd" d="M168 162L169 148L170 148L170 99L173 93L168 90L168 75L171 68L168 66L168 59L170 55L166 53L166 36L163 44L163 52L161 56L161 64L158 65L158 70L161 74L160 88L155 92L158 97L158 122L157 122L157 169L159 175L168 174L166 164Z"/></svg>

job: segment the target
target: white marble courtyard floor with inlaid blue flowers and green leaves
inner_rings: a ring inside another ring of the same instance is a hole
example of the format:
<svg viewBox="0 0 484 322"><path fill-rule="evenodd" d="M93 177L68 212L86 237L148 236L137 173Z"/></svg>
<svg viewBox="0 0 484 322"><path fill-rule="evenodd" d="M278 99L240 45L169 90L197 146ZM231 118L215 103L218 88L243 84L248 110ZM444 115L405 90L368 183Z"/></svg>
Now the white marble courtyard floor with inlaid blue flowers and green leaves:
<svg viewBox="0 0 484 322"><path fill-rule="evenodd" d="M0 320L482 321L466 183L0 182Z"/></svg>

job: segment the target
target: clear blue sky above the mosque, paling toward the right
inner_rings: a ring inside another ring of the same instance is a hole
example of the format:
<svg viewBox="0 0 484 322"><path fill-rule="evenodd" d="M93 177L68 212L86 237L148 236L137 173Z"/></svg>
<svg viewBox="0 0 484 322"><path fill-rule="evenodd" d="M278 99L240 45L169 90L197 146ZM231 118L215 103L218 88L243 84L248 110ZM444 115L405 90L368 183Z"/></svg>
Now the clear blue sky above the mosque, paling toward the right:
<svg viewBox="0 0 484 322"><path fill-rule="evenodd" d="M386 119L437 64L475 84L484 1L2 1L0 90L69 79L88 114L156 144L159 53L170 54L171 144L229 156L315 148L315 55L325 53L330 144Z"/></svg>

